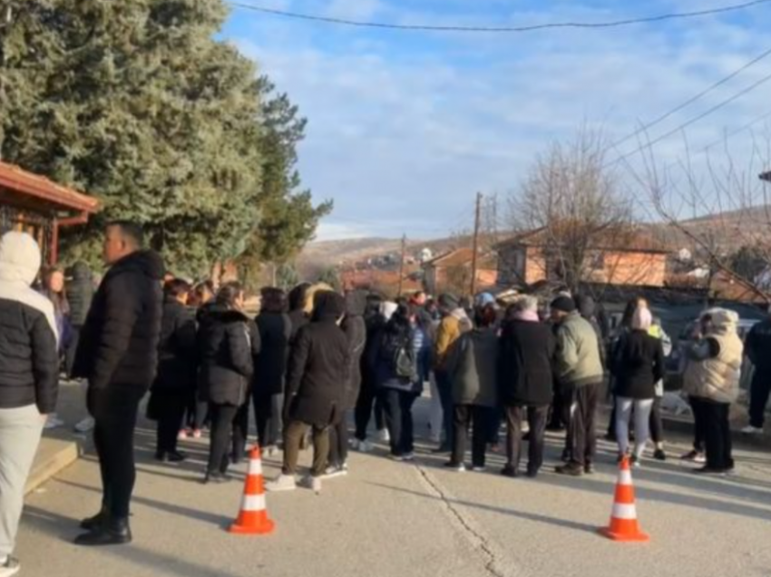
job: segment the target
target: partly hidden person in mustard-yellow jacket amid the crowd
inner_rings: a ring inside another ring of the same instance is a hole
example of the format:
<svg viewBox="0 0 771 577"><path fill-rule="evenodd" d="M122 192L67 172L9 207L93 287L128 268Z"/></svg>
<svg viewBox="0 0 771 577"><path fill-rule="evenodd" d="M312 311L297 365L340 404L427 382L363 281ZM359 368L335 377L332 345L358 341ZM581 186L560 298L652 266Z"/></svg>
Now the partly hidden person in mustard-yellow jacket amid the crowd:
<svg viewBox="0 0 771 577"><path fill-rule="evenodd" d="M453 379L447 370L447 360L455 342L472 329L472 323L454 295L440 295L438 302L442 320L436 329L434 342L434 376L442 401L444 440L436 449L436 453L449 453L454 439L454 401Z"/></svg>

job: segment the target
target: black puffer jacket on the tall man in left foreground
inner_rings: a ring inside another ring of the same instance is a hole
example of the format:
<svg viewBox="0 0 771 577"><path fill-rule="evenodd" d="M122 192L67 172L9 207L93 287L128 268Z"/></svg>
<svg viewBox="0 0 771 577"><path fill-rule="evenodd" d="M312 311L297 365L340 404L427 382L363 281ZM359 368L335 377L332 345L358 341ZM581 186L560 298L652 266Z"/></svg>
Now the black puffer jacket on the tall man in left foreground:
<svg viewBox="0 0 771 577"><path fill-rule="evenodd" d="M158 366L163 274L163 260L151 250L112 265L83 325L73 377L87 378L93 389L147 391Z"/></svg>

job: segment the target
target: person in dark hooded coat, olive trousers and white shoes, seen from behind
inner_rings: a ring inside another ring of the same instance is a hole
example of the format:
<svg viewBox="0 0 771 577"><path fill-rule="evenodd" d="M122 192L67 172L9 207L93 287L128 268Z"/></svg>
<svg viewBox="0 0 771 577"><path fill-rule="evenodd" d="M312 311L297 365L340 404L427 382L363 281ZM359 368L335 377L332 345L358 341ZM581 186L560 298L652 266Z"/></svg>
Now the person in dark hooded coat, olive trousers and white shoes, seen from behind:
<svg viewBox="0 0 771 577"><path fill-rule="evenodd" d="M289 356L287 393L284 401L284 465L268 491L292 491L297 487L300 445L308 429L313 435L313 465L303 485L321 491L327 469L329 427L345 407L350 351L340 323L346 300L329 290L314 294L313 316L300 328Z"/></svg>

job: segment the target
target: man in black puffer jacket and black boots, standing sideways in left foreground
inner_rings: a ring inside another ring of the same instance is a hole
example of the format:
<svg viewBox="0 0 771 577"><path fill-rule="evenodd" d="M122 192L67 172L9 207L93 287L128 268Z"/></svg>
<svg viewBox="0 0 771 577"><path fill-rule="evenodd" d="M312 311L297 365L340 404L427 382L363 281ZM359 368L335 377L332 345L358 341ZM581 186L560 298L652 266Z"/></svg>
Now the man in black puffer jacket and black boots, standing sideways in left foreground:
<svg viewBox="0 0 771 577"><path fill-rule="evenodd" d="M107 227L104 261L110 270L93 298L73 374L88 379L88 409L102 473L102 511L85 519L80 545L130 543L129 507L136 470L133 440L137 409L158 365L164 267L142 250L142 229Z"/></svg>

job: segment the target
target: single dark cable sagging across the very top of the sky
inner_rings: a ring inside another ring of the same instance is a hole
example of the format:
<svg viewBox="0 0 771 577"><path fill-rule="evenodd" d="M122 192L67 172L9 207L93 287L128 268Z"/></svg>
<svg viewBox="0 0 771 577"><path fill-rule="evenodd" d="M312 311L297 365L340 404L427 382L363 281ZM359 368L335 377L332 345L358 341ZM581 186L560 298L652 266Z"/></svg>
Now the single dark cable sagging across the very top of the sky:
<svg viewBox="0 0 771 577"><path fill-rule="evenodd" d="M665 22L668 20L683 20L686 18L698 18L710 15L721 15L730 12L737 12L753 8L757 5L771 3L771 0L752 0L743 4L727 5L720 8L708 8L692 12L678 12L665 15L646 16L639 18L629 18L625 20L613 20L610 22L554 22L547 24L532 24L524 26L441 26L433 24L390 24L384 22L366 22L360 20L347 20L345 18L334 18L331 16L311 15L299 12L289 12L287 10L278 10L266 6L246 4L244 2L229 2L236 8L252 10L262 14L283 16L295 20L305 20L307 22L316 22L322 24L338 24L345 26L355 26L357 28L380 28L386 30L402 31L429 31L429 32L470 32L470 33L522 33L534 32L537 30L547 30L553 28L615 28L620 26L629 26L633 24L651 24Z"/></svg>

